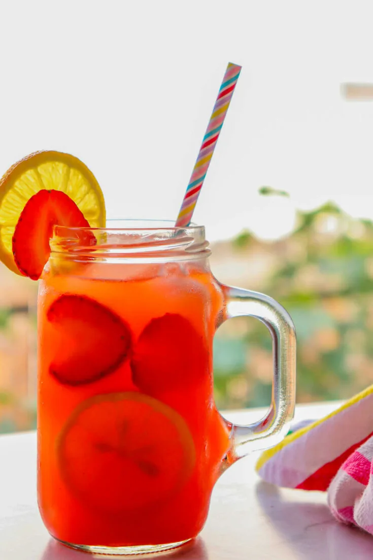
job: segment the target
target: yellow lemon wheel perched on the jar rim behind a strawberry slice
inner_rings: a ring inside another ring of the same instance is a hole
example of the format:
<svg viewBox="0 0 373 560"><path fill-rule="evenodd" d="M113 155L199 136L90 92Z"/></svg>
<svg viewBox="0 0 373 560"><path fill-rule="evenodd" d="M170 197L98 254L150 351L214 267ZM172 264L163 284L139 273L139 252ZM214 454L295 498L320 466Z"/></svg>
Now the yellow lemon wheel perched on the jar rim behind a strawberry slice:
<svg viewBox="0 0 373 560"><path fill-rule="evenodd" d="M42 189L67 194L91 227L105 227L104 195L88 167L69 153L31 153L0 180L0 260L17 274L21 272L13 258L13 234L27 201Z"/></svg>

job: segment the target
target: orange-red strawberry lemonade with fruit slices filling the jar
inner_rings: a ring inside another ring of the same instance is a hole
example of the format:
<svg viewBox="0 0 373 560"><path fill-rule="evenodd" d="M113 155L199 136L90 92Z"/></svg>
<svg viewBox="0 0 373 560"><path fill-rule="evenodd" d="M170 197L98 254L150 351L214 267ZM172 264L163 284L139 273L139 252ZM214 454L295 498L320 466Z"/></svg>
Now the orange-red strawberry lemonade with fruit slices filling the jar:
<svg viewBox="0 0 373 560"><path fill-rule="evenodd" d="M66 274L52 254L40 282L41 515L67 543L182 542L229 449L212 382L222 293L203 262L107 260Z"/></svg>

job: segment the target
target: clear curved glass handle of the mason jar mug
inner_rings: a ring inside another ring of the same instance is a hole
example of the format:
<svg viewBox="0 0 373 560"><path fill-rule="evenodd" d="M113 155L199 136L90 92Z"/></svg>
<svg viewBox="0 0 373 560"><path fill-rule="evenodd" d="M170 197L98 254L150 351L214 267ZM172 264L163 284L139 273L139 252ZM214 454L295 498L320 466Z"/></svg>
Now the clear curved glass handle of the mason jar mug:
<svg viewBox="0 0 373 560"><path fill-rule="evenodd" d="M221 288L225 295L223 322L255 317L267 326L273 341L271 406L264 418L248 426L228 422L232 446L227 459L231 464L251 451L276 445L286 436L295 408L296 337L290 315L272 297L223 284Z"/></svg>

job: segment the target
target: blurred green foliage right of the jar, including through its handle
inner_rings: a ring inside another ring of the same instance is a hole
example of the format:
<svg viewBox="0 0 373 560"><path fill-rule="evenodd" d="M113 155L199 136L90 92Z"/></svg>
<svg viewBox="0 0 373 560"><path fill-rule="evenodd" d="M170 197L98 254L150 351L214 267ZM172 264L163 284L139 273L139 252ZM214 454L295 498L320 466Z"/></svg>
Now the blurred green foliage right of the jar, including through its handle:
<svg viewBox="0 0 373 560"><path fill-rule="evenodd" d="M264 194L273 194L265 188ZM263 189L262 189L263 191ZM278 194L274 192L274 194ZM348 398L373 382L373 224L332 203L297 213L285 239L259 241L249 231L231 241L236 259L262 277L248 288L276 298L297 331L297 401ZM215 393L220 408L267 405L272 341L259 321L228 321L215 337ZM221 332L220 332L221 331Z"/></svg>

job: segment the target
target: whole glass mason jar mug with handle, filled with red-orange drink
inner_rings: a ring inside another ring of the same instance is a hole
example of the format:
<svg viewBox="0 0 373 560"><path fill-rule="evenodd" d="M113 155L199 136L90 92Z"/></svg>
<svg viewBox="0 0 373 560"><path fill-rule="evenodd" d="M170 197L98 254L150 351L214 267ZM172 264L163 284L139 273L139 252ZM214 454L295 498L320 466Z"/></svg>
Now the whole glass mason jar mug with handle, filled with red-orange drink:
<svg viewBox="0 0 373 560"><path fill-rule="evenodd" d="M174 548L201 531L223 470L285 434L295 402L291 319L268 296L213 277L201 226L54 234L38 302L45 526L91 552ZM213 399L213 336L237 315L262 320L274 341L273 401L251 426L226 422Z"/></svg>

